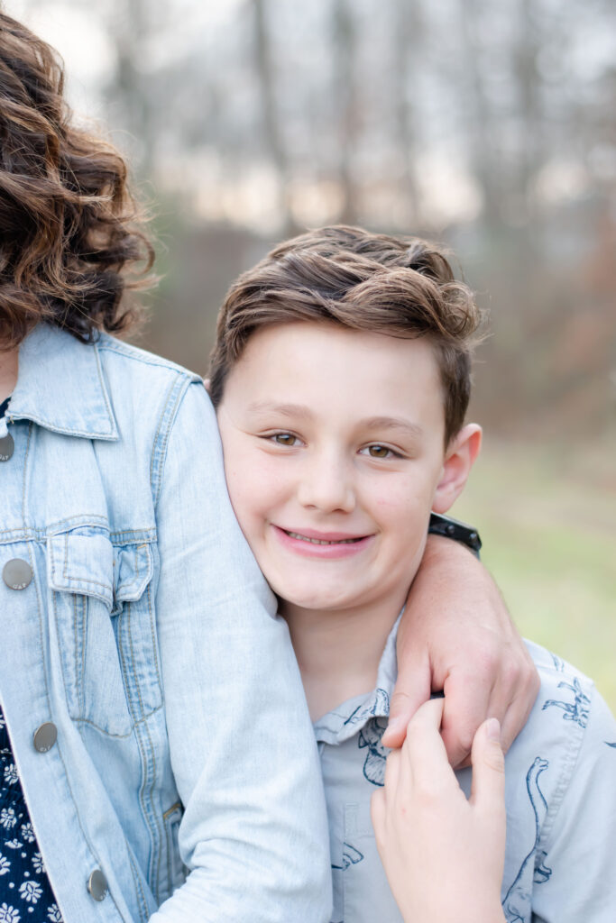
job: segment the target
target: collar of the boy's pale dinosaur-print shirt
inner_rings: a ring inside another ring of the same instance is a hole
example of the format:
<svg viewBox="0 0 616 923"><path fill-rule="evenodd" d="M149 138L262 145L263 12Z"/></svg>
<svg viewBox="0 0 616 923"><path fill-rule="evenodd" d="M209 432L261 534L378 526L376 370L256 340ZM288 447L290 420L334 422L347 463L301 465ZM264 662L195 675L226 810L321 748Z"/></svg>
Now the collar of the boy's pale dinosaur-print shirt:
<svg viewBox="0 0 616 923"><path fill-rule="evenodd" d="M314 724L317 740L341 744L354 737L372 718L388 718L393 687L398 677L395 645L402 613L396 618L380 656L377 685L368 695L345 701Z"/></svg>

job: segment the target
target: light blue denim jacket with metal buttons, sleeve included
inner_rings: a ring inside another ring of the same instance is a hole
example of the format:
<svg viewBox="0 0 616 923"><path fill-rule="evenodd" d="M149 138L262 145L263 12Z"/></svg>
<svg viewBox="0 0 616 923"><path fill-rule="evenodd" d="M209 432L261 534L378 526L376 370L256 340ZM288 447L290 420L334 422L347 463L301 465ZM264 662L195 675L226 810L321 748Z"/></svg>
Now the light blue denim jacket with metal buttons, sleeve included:
<svg viewBox="0 0 616 923"><path fill-rule="evenodd" d="M0 581L0 704L66 923L329 920L308 710L200 379L40 325L6 422L0 571L33 579Z"/></svg>

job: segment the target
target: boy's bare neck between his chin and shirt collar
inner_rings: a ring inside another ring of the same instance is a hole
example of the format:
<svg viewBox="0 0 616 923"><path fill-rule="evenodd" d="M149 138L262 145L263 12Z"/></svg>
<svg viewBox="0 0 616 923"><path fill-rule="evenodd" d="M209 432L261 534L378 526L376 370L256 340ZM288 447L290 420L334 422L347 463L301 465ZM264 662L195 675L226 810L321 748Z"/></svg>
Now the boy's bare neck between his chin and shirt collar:
<svg viewBox="0 0 616 923"><path fill-rule="evenodd" d="M380 657L408 587L374 605L305 609L281 601L312 721L375 688Z"/></svg>

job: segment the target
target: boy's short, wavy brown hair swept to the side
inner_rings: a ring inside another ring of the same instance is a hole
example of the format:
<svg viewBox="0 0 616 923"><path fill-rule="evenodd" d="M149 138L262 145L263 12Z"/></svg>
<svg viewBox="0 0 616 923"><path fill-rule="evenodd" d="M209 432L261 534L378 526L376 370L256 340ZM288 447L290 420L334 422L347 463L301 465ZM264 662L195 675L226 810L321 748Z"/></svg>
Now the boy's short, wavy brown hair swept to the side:
<svg viewBox="0 0 616 923"><path fill-rule="evenodd" d="M239 276L224 299L211 353L214 406L250 335L266 325L298 320L428 337L441 371L445 444L461 429L480 314L438 246L338 225L275 247Z"/></svg>

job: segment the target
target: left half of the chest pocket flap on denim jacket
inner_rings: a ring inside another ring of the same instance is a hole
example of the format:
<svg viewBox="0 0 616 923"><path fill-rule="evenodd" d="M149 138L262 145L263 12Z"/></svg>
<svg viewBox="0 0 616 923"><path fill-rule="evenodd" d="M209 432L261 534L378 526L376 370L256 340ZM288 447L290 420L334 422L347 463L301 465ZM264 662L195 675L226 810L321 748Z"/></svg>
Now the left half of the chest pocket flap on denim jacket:
<svg viewBox="0 0 616 923"><path fill-rule="evenodd" d="M64 533L48 538L49 585L59 592L114 602L114 546L106 535Z"/></svg>

